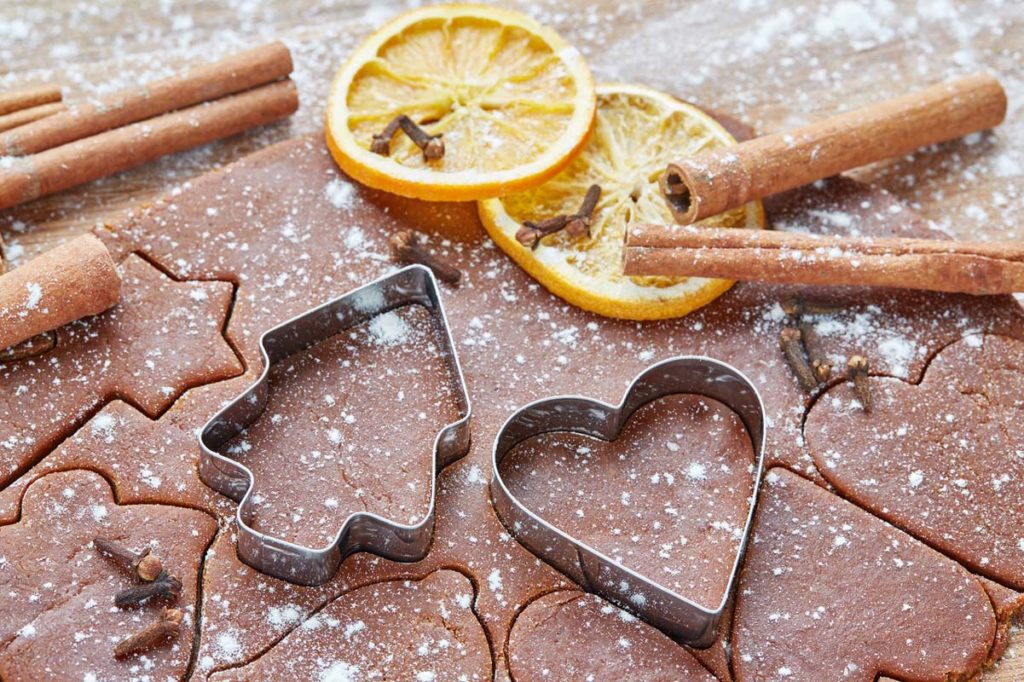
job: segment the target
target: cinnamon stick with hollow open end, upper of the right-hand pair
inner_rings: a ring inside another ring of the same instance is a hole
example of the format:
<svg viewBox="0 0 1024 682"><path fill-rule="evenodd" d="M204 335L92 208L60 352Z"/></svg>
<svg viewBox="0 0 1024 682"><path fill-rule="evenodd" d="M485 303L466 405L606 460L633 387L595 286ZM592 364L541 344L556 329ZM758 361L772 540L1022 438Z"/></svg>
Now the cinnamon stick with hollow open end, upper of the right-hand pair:
<svg viewBox="0 0 1024 682"><path fill-rule="evenodd" d="M1007 94L976 74L669 164L660 185L673 217L689 224L746 202L808 184L1002 122Z"/></svg>

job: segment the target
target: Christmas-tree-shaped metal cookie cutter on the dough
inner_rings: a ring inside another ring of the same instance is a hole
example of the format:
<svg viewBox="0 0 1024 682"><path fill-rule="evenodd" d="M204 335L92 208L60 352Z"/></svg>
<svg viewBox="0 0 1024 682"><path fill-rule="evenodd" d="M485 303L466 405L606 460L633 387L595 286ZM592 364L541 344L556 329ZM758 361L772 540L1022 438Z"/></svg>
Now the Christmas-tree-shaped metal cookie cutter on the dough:
<svg viewBox="0 0 1024 682"><path fill-rule="evenodd" d="M218 451L255 422L266 408L270 367L339 332L411 303L430 310L437 323L438 344L459 384L457 399L462 415L458 421L442 427L434 438L430 507L426 516L409 525L370 512L355 512L345 519L334 540L321 548L302 547L253 529L252 471ZM422 265L410 265L274 327L260 337L259 345L263 355L259 379L210 419L199 436L200 477L210 487L239 502L240 558L257 570L300 585L327 582L342 560L354 552L373 552L396 561L422 559L433 536L437 474L463 457L470 441L469 395L431 271Z"/></svg>

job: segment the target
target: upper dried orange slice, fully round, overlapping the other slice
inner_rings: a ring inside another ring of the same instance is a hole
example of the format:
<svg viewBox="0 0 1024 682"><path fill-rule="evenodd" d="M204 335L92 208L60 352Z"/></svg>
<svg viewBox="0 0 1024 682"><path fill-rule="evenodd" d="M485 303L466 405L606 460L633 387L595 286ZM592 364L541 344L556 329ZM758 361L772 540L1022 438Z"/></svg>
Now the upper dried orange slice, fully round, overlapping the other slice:
<svg viewBox="0 0 1024 682"><path fill-rule="evenodd" d="M468 201L536 186L561 170L594 121L594 81L583 56L518 12L436 5L399 15L338 72L327 106L335 161L378 189L428 201ZM443 135L427 160L408 135L387 156L374 135L398 115Z"/></svg>

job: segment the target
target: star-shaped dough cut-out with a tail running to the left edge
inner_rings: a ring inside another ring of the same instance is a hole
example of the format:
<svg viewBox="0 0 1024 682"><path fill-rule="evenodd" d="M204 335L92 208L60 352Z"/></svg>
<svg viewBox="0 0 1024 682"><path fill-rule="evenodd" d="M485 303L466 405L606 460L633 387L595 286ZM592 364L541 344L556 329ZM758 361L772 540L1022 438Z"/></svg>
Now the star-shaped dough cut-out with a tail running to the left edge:
<svg viewBox="0 0 1024 682"><path fill-rule="evenodd" d="M0 485L111 399L156 417L185 389L242 372L221 334L229 284L174 282L138 256L120 269L118 305L60 328L51 351L0 365Z"/></svg>

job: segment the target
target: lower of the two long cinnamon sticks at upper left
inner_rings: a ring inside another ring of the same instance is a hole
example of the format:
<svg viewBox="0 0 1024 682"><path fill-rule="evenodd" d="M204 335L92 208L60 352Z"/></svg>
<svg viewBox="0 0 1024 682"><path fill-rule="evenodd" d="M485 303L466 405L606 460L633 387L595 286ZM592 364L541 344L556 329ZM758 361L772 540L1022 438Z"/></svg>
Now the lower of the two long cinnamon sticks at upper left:
<svg viewBox="0 0 1024 682"><path fill-rule="evenodd" d="M31 157L8 159L0 163L0 208L278 121L298 105L295 84L286 79Z"/></svg>

